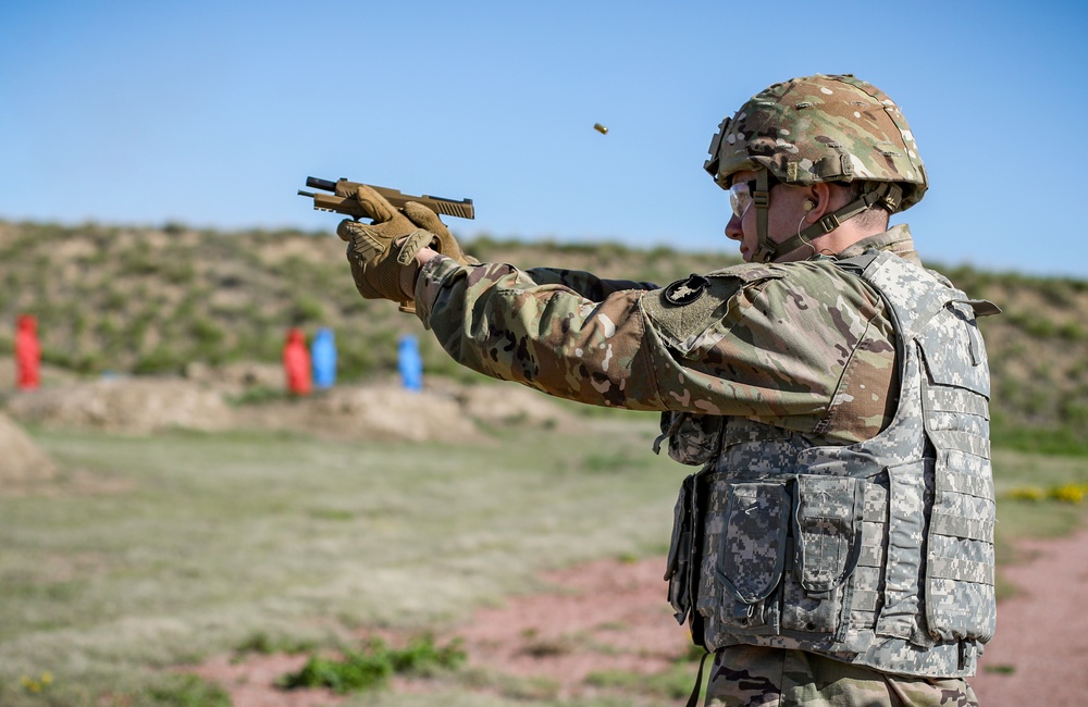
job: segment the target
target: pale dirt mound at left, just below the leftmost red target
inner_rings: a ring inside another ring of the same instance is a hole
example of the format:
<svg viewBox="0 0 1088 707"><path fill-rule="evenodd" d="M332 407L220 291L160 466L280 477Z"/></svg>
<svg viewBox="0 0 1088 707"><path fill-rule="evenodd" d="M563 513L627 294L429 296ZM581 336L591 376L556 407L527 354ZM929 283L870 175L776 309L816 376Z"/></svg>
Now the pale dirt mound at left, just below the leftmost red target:
<svg viewBox="0 0 1088 707"><path fill-rule="evenodd" d="M9 413L50 426L147 434L171 427L221 430L233 411L213 390L181 379L104 379L22 393Z"/></svg>

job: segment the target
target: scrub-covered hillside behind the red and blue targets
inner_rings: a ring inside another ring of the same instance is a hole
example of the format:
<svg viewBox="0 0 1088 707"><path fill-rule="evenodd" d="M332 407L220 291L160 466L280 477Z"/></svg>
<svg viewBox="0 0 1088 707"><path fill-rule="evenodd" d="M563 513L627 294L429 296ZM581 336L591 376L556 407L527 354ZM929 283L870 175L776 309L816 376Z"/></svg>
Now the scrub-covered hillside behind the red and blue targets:
<svg viewBox="0 0 1088 707"><path fill-rule="evenodd" d="M668 283L737 262L735 257L639 250L617 244L466 245L481 260L589 270ZM361 299L344 244L299 231L218 233L0 222L0 347L14 320L39 320L47 362L86 374L157 374L191 361L277 361L284 332L336 333L343 380L395 368L397 337L422 334L413 317ZM942 268L1001 317L980 321L993 375L994 442L1022 448L1088 448L1088 282ZM431 374L472 377L421 336Z"/></svg>

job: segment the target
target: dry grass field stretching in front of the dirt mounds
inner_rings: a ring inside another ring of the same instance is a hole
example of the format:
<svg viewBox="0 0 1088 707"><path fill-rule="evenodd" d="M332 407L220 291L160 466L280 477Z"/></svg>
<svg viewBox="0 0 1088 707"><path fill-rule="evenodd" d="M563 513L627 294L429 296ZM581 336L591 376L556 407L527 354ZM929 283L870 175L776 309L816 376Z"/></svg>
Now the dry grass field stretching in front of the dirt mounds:
<svg viewBox="0 0 1088 707"><path fill-rule="evenodd" d="M675 704L694 663L659 572L685 470L651 452L656 420L519 412L508 385L485 386L507 414L478 418L486 393L440 387L390 423L453 411L461 439L321 434L285 400L214 430L25 423L51 467L0 491L0 704ZM1058 492L1086 487L1085 458L999 450L996 468L1003 562L1080 523ZM274 686L308 656L424 633L465 641L467 666L344 696Z"/></svg>

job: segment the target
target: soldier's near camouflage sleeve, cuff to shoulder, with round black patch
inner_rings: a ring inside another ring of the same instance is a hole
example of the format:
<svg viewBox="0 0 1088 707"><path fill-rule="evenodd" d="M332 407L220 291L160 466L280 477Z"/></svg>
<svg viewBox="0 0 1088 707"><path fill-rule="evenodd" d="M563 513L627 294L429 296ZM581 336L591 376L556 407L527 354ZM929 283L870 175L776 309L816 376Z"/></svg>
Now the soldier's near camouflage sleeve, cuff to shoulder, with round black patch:
<svg viewBox="0 0 1088 707"><path fill-rule="evenodd" d="M692 280L690 298L670 297L687 287L675 283L593 299L541 275L556 271L436 259L417 311L460 363L558 397L804 432L879 429L893 334L873 324L878 298L832 266L796 265L712 273Z"/></svg>

